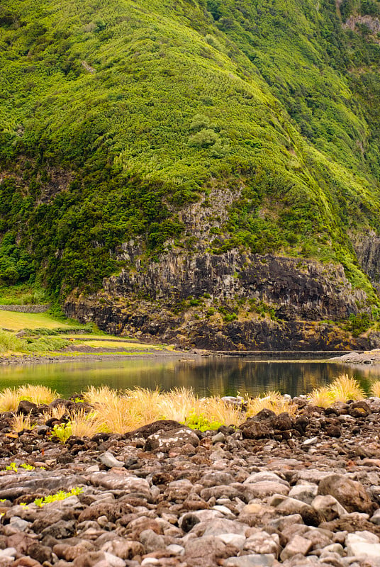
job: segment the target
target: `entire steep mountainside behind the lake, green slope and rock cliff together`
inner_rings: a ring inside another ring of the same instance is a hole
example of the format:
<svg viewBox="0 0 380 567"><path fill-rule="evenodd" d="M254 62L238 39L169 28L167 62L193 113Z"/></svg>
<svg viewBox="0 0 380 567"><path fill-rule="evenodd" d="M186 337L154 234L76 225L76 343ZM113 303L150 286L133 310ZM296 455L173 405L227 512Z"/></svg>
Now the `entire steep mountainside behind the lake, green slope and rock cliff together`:
<svg viewBox="0 0 380 567"><path fill-rule="evenodd" d="M116 332L359 344L380 271L379 13L6 1L1 282L37 277Z"/></svg>

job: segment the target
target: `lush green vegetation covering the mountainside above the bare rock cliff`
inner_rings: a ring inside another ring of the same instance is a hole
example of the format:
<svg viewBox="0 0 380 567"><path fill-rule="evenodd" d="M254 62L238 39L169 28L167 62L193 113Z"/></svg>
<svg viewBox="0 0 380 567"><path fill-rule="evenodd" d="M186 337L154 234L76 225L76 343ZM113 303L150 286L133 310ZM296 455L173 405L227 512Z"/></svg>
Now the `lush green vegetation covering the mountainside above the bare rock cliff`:
<svg viewBox="0 0 380 567"><path fill-rule="evenodd" d="M7 0L0 285L99 286L122 242L186 245L181 208L219 186L234 199L213 253L342 262L369 289L349 235L379 230L380 45L342 23L379 9Z"/></svg>

